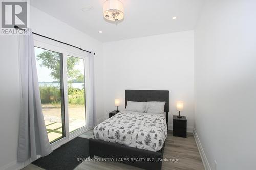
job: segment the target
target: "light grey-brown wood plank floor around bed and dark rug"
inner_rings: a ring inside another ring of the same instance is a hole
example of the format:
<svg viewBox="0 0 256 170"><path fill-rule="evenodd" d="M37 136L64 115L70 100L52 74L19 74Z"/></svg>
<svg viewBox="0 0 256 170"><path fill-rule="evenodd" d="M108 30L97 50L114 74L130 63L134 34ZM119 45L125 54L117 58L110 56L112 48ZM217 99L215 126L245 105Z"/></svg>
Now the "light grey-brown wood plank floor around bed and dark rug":
<svg viewBox="0 0 256 170"><path fill-rule="evenodd" d="M92 130L87 131L80 137L91 138ZM95 157L97 158L97 157ZM204 169L196 141L192 133L187 133L187 138L174 137L172 131L168 131L167 139L165 141L163 158L179 159L177 162L163 162L163 170L200 170ZM39 170L34 165L28 165L23 170ZM41 169L41 168L40 168ZM125 165L119 162L96 162L84 161L75 168L76 170L113 170L113 169L140 169L134 166Z"/></svg>

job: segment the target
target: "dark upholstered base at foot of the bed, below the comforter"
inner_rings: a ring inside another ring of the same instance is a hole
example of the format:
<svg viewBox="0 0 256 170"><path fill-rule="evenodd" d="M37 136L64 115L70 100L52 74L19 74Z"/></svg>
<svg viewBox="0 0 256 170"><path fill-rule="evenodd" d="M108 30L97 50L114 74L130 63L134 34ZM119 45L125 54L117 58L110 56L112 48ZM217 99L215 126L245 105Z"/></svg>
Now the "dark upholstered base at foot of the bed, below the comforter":
<svg viewBox="0 0 256 170"><path fill-rule="evenodd" d="M94 155L102 158L114 158L115 161L148 170L162 168L161 159L163 158L163 151L164 145L160 151L153 152L134 147L127 147L117 143L105 142L92 138L89 139L90 158L93 158Z"/></svg>

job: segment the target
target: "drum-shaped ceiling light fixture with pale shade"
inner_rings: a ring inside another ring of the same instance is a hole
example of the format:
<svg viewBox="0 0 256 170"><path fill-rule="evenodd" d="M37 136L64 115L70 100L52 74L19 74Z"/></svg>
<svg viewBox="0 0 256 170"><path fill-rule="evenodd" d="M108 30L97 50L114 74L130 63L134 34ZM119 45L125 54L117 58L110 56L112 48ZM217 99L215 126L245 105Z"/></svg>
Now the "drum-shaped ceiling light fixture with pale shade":
<svg viewBox="0 0 256 170"><path fill-rule="evenodd" d="M110 21L120 21L124 17L123 3L119 0L106 0L103 5L104 18Z"/></svg>

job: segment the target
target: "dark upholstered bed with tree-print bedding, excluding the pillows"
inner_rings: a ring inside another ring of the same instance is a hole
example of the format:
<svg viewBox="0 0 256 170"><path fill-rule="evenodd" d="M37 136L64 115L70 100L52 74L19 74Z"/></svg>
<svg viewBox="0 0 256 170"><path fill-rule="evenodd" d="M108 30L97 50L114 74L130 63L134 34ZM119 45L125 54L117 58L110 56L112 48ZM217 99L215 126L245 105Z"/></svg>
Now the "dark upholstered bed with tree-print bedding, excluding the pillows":
<svg viewBox="0 0 256 170"><path fill-rule="evenodd" d="M90 158L95 155L144 169L161 169L167 136L169 91L125 90L125 106L127 101L165 101L165 115L121 111L105 120L94 128L95 139L89 139ZM150 128L151 124L154 124L153 128Z"/></svg>

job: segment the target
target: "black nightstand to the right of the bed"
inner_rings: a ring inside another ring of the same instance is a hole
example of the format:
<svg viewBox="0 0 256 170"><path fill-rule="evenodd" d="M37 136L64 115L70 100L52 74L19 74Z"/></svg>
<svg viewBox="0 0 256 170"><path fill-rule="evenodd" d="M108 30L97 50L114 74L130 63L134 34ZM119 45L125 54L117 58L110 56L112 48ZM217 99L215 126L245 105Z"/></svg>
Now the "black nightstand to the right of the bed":
<svg viewBox="0 0 256 170"><path fill-rule="evenodd" d="M173 136L187 137L187 119L185 116L173 116Z"/></svg>

